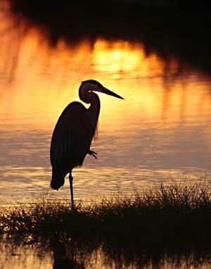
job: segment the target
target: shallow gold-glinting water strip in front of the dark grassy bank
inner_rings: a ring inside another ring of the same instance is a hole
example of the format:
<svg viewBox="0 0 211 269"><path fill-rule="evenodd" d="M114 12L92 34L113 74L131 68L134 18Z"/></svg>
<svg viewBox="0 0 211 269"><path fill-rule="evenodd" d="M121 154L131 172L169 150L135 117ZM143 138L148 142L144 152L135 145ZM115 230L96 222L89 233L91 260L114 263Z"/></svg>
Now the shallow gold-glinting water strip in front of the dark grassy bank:
<svg viewBox="0 0 211 269"><path fill-rule="evenodd" d="M59 246L59 249L58 249ZM34 269L188 269L210 268L210 258L205 254L164 254L162 249L155 254L153 251L126 252L100 245L96 249L87 249L86 246L72 244L58 244L45 249L44 246L1 244L1 268L34 268ZM115 252L113 252L115 251Z"/></svg>

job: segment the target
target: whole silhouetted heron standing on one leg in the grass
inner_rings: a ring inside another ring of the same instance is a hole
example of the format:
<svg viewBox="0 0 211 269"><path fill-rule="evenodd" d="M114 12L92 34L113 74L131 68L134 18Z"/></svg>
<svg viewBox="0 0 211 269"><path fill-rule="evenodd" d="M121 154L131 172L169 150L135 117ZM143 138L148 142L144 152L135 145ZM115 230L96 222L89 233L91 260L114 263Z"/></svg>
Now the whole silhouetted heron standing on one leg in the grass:
<svg viewBox="0 0 211 269"><path fill-rule="evenodd" d="M79 86L79 99L86 104L73 101L63 110L53 130L51 138L51 188L58 190L65 182L69 173L70 206L74 207L72 169L82 166L85 156L96 157L96 152L90 149L91 142L96 135L98 116L101 102L98 94L102 92L110 96L123 99L122 96L103 87L96 80L84 80Z"/></svg>

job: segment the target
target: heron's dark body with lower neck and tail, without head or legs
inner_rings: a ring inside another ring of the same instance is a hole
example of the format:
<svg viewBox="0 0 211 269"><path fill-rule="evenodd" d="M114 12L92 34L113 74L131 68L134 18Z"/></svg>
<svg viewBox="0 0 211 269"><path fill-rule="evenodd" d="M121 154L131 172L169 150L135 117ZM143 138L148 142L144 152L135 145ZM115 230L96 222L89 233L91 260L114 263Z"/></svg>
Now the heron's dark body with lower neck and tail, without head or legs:
<svg viewBox="0 0 211 269"><path fill-rule="evenodd" d="M94 93L93 93L94 94ZM72 169L81 166L96 132L100 100L87 109L79 102L70 103L60 115L51 139L51 187L59 189Z"/></svg>

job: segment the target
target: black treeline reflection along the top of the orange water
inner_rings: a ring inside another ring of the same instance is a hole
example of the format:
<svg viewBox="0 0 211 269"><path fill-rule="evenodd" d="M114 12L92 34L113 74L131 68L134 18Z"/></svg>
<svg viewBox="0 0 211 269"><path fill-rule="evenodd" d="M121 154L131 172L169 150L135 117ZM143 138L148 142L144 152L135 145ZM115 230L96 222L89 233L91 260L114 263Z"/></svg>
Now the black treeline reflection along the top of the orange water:
<svg viewBox="0 0 211 269"><path fill-rule="evenodd" d="M200 1L11 1L14 13L49 30L52 45L61 37L71 43L98 36L132 39L145 44L148 54L177 56L208 73L210 6Z"/></svg>

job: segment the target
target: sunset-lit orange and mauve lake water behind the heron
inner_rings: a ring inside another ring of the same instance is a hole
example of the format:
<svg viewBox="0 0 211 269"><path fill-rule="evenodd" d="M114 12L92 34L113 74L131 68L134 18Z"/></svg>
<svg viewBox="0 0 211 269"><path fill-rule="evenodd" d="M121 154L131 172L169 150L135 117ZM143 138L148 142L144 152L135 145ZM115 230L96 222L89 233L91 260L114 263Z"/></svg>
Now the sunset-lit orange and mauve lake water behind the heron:
<svg viewBox="0 0 211 269"><path fill-rule="evenodd" d="M98 141L73 176L75 199L197 180L211 173L210 76L179 58L148 54L127 39L52 45L48 32L1 6L0 202L65 199L49 188L49 144L58 116L96 79L124 97L99 94Z"/></svg>

